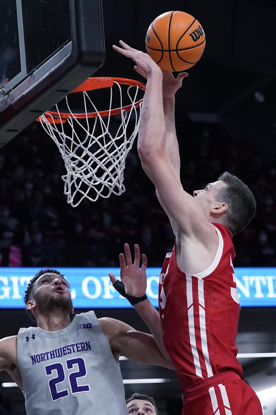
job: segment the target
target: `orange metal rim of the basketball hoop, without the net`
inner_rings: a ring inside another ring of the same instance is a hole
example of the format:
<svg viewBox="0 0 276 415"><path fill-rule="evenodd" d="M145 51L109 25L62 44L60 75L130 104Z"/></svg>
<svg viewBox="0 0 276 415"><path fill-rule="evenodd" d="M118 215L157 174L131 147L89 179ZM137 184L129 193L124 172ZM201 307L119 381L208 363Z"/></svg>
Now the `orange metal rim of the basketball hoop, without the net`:
<svg viewBox="0 0 276 415"><path fill-rule="evenodd" d="M95 89L101 88L109 88L112 87L114 83L118 83L119 85L129 85L129 86L137 86L139 89L145 90L146 85L142 82L135 81L134 79L128 78L117 78L117 77L90 77L86 79L81 85L79 85L76 89L74 89L70 94L76 92L85 92L91 91ZM69 95L69 94L68 94ZM143 98L133 104L125 105L124 107L114 108L113 110L106 110L106 111L99 111L99 112L79 112L79 113L70 113L70 112L56 112L56 111L46 111L43 115L46 117L47 121L53 124L63 124L66 122L67 117L74 117L79 120L86 119L86 118L96 118L97 116L101 117L108 117L109 115L116 115L120 114L122 110L130 111L133 107L137 108L142 104ZM44 122L41 120L41 117L37 118L36 121Z"/></svg>

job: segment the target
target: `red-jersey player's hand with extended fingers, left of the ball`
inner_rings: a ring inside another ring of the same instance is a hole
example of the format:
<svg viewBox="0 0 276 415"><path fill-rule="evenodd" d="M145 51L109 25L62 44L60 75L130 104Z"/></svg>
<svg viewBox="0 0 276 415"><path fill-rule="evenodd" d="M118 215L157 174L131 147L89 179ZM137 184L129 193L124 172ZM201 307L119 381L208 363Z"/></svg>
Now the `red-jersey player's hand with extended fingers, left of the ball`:
<svg viewBox="0 0 276 415"><path fill-rule="evenodd" d="M130 47L122 40L120 40L119 43L122 47L113 45L113 49L119 52L120 54L127 56L127 58L132 59L137 65L134 66L135 71L138 72L140 75L144 76L144 78L147 78L150 72L156 72L161 74L161 69L159 68L159 66L156 65L156 63L151 59L151 57L147 53Z"/></svg>

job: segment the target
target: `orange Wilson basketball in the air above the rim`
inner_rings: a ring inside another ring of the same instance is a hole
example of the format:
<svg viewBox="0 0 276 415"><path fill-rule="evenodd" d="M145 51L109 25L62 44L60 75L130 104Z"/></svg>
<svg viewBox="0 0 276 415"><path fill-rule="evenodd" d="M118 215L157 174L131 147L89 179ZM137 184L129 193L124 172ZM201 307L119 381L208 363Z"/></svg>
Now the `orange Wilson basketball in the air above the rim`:
<svg viewBox="0 0 276 415"><path fill-rule="evenodd" d="M156 17L146 32L146 51L166 71L185 71L201 58L205 34L188 13L166 12Z"/></svg>

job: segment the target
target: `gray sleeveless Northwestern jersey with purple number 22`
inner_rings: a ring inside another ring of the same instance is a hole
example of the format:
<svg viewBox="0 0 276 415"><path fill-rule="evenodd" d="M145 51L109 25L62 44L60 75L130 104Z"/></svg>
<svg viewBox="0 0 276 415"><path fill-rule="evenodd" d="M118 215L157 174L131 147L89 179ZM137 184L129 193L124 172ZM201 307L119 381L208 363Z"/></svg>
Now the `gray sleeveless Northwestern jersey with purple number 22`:
<svg viewBox="0 0 276 415"><path fill-rule="evenodd" d="M127 415L120 365L94 311L56 332L20 329L17 358L27 415Z"/></svg>

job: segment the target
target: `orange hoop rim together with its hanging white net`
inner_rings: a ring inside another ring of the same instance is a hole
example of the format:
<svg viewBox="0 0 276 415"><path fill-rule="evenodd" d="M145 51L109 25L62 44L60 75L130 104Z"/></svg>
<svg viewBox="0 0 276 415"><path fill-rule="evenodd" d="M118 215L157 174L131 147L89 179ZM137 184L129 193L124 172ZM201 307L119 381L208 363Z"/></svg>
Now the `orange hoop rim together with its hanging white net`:
<svg viewBox="0 0 276 415"><path fill-rule="evenodd" d="M125 106L122 106L121 85L128 87L125 95L130 104ZM109 110L98 111L87 91L107 87L110 87ZM115 87L119 88L120 107L112 109ZM64 194L72 207L84 198L95 202L99 196L109 198L111 193L125 192L125 159L138 132L142 106L142 99L136 101L137 93L145 88L143 83L125 78L88 78L73 91L82 92L83 113L73 113L66 96L68 112L60 112L58 103L56 111L48 111L37 119L58 146L65 162ZM92 105L94 112L87 111L88 105ZM120 116L113 117L116 114ZM111 121L112 117L116 122Z"/></svg>

